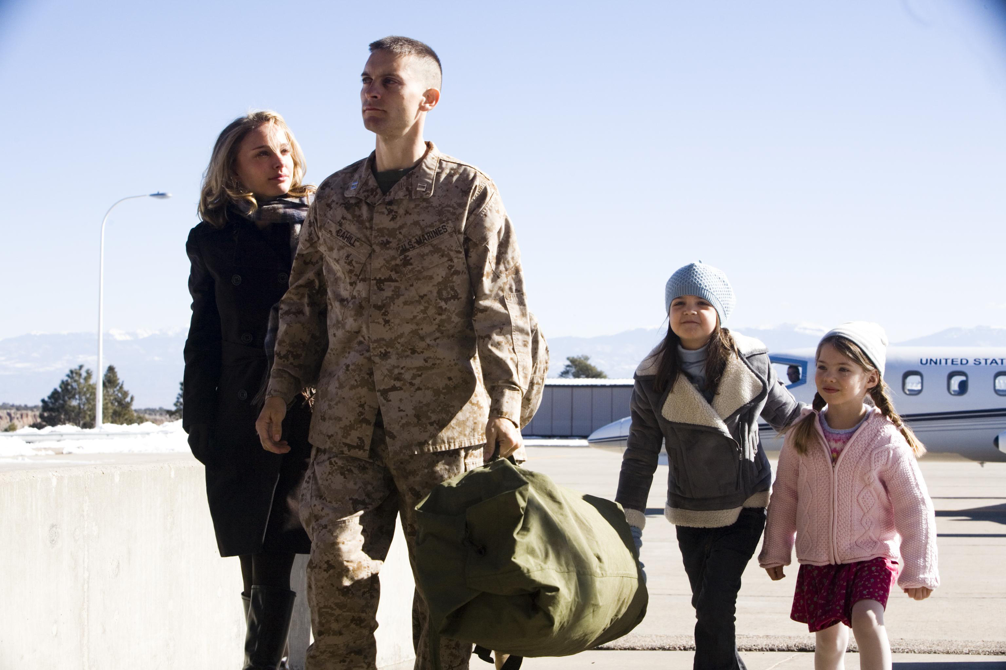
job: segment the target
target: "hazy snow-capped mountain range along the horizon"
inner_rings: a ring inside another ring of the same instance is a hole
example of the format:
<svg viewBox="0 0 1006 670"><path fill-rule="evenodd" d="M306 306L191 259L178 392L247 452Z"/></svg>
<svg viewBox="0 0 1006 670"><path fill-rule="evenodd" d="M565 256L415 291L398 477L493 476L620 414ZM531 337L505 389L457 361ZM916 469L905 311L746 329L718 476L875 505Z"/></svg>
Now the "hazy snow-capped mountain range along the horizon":
<svg viewBox="0 0 1006 670"><path fill-rule="evenodd" d="M665 326L666 327L666 326ZM772 327L737 327L758 338L771 351L814 347L825 328L806 323ZM549 377L557 377L566 357L588 355L611 378L631 378L636 366L660 342L664 328L635 328L595 338L548 339ZM105 338L105 365L114 365L126 388L136 396L135 407L171 407L182 379L185 329L123 332ZM895 343L904 346L1006 347L1006 328L980 325L954 327ZM70 368L94 369L98 341L94 332L17 336L0 340L0 402L37 405Z"/></svg>

